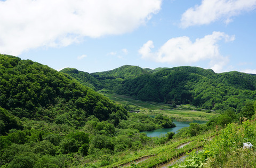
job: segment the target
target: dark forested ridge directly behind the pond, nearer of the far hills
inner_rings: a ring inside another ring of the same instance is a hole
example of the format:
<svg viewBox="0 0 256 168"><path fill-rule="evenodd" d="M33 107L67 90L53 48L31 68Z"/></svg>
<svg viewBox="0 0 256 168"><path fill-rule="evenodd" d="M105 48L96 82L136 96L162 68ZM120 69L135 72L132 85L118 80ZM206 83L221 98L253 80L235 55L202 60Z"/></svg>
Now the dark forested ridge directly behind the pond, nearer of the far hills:
<svg viewBox="0 0 256 168"><path fill-rule="evenodd" d="M175 67L124 80L116 92L145 101L190 103L213 110L230 107L239 112L246 101L255 100L255 81L255 76L244 73Z"/></svg>

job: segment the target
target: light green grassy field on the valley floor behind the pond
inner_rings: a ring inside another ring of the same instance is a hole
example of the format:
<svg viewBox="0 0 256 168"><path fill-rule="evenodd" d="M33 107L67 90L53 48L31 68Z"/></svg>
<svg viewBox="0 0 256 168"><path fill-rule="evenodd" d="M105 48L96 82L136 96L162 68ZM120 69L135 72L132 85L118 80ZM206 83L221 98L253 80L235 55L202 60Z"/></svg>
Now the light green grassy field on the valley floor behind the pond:
<svg viewBox="0 0 256 168"><path fill-rule="evenodd" d="M124 105L125 103L128 103L131 108L135 110L141 110L142 113L146 113L149 115L156 115L156 114L162 113L172 117L177 121L194 121L194 120L208 121L209 119L218 115L214 112L205 113L204 110L202 111L191 110L191 109L196 109L194 106L191 106L191 105L182 105L178 108L173 108L171 105L135 100L125 95L118 95L115 93L106 93L106 92L100 92L100 93L106 95L106 97L115 101L116 103L120 103L122 105ZM190 110L188 110L188 108L190 108ZM160 109L163 109L163 110L160 110Z"/></svg>

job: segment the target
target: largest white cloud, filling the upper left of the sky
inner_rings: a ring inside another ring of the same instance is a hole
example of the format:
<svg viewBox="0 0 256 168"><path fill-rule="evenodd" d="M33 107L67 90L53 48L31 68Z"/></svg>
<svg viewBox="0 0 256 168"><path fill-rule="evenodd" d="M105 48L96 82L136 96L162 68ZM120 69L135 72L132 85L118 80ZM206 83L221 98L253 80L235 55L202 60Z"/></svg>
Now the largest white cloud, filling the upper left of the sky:
<svg viewBox="0 0 256 168"><path fill-rule="evenodd" d="M20 53L39 46L61 47L83 37L124 34L145 24L162 0L0 1L0 51Z"/></svg>

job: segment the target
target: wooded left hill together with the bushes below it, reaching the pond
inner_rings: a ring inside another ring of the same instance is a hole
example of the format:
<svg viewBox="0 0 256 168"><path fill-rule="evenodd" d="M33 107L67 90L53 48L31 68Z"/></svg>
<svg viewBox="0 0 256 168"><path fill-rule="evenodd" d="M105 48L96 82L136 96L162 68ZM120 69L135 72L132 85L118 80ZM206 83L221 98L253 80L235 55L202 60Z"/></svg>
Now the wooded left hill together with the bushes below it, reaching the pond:
<svg viewBox="0 0 256 168"><path fill-rule="evenodd" d="M139 131L175 126L161 114L127 114L68 74L40 63L1 54L0 66L1 167L109 165L120 153L167 141Z"/></svg>

